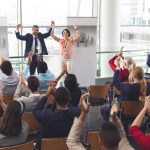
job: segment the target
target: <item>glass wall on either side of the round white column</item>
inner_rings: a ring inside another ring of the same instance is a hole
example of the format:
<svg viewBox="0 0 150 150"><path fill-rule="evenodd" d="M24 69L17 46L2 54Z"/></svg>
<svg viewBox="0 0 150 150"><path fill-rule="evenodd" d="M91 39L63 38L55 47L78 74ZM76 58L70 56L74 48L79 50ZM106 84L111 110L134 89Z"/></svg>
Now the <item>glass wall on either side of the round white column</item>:
<svg viewBox="0 0 150 150"><path fill-rule="evenodd" d="M98 0L101 3L103 0ZM147 54L150 52L150 2L149 0L120 0L120 47L124 46L124 55L131 56L138 66L147 72ZM102 16L99 6L98 19ZM100 24L98 20L97 38L97 76L101 74ZM117 51L111 51L115 55Z"/></svg>

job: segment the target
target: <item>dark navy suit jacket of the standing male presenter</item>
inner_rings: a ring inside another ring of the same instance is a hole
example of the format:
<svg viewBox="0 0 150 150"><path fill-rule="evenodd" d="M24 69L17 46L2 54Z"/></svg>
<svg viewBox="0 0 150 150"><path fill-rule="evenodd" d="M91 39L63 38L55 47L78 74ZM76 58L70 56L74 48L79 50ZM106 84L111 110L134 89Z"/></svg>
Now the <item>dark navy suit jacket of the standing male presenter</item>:
<svg viewBox="0 0 150 150"><path fill-rule="evenodd" d="M44 34L42 34L41 32L38 33L38 39L41 42L41 46L42 46L42 55L48 55L47 48L44 42L44 38L47 38L50 36L51 30L52 28L50 28L49 31ZM27 33L26 35L20 35L20 32L16 32L16 37L19 40L26 41L24 56L27 57L32 47L33 35L31 33Z"/></svg>

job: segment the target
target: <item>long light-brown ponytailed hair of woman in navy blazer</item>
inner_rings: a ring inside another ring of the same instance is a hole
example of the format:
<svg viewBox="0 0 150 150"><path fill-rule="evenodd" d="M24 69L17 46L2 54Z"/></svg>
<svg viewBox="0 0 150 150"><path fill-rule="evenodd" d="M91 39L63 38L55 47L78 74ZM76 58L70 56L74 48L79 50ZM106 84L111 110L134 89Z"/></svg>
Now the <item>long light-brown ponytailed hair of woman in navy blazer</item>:
<svg viewBox="0 0 150 150"><path fill-rule="evenodd" d="M141 100L143 101L146 96L146 81L144 79L144 70L141 67L135 67L133 70L134 78L137 78L140 82L140 94Z"/></svg>

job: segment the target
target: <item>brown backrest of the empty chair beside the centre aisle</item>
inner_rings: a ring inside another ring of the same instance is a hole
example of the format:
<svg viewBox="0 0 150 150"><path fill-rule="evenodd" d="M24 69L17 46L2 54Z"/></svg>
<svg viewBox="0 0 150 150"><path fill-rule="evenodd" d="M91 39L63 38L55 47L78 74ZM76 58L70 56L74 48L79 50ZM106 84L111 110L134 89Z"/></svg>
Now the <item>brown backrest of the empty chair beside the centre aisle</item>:
<svg viewBox="0 0 150 150"><path fill-rule="evenodd" d="M108 95L110 85L90 85L90 96L95 99L104 98Z"/></svg>

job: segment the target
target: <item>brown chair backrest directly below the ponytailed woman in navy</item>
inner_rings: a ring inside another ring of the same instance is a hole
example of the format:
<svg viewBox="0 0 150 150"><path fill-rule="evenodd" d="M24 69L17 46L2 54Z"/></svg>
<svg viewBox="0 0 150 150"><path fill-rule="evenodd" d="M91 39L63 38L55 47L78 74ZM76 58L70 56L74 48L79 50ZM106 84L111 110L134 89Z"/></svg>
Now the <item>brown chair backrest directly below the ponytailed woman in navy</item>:
<svg viewBox="0 0 150 150"><path fill-rule="evenodd" d="M143 101L123 101L122 114L126 116L136 116L144 107Z"/></svg>

